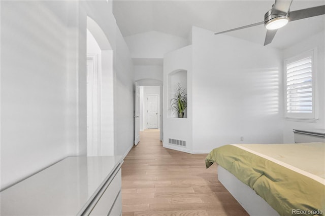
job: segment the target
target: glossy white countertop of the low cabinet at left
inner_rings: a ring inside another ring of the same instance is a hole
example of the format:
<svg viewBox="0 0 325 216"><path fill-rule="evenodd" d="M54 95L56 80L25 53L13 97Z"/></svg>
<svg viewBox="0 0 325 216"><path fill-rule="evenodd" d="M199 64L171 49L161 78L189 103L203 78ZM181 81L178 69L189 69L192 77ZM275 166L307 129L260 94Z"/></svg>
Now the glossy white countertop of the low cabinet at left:
<svg viewBox="0 0 325 216"><path fill-rule="evenodd" d="M68 157L2 191L1 214L76 215L121 162L121 156Z"/></svg>

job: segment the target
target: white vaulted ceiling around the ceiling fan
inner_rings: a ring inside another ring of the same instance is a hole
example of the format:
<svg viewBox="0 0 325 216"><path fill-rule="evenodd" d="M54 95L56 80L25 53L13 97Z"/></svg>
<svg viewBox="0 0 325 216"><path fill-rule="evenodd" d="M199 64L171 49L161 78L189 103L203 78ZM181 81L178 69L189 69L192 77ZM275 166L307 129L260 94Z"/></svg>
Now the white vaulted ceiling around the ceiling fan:
<svg viewBox="0 0 325 216"><path fill-rule="evenodd" d="M113 14L123 37L160 31L187 38L191 26L214 32L264 20L273 0L264 1L113 1ZM290 11L325 5L325 0L294 0ZM289 22L278 30L271 46L285 48L324 30L325 15ZM298 33L299 32L299 33ZM264 25L226 33L264 44ZM217 37L217 35L216 35ZM270 45L268 45L270 46Z"/></svg>

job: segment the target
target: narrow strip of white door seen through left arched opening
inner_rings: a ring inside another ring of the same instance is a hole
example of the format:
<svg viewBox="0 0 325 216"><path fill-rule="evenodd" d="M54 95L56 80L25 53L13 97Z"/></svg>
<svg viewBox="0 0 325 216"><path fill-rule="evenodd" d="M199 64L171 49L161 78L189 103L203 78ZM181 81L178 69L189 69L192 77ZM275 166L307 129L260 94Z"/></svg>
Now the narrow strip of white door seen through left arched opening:
<svg viewBox="0 0 325 216"><path fill-rule="evenodd" d="M96 55L87 54L87 156L97 153Z"/></svg>

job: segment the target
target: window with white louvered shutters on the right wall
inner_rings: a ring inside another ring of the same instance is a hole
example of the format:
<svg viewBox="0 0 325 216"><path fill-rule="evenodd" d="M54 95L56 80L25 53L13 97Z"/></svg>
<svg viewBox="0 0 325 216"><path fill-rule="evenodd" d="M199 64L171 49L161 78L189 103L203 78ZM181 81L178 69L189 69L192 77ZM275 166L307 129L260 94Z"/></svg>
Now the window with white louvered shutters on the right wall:
<svg viewBox="0 0 325 216"><path fill-rule="evenodd" d="M314 50L285 60L286 118L315 119Z"/></svg>

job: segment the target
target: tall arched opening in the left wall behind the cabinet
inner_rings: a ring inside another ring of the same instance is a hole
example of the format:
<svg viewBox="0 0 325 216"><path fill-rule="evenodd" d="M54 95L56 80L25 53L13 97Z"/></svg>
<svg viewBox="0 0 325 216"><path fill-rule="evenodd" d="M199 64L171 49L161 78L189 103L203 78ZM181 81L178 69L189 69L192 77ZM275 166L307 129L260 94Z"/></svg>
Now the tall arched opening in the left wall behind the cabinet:
<svg viewBox="0 0 325 216"><path fill-rule="evenodd" d="M114 155L113 50L87 16L87 156Z"/></svg>

